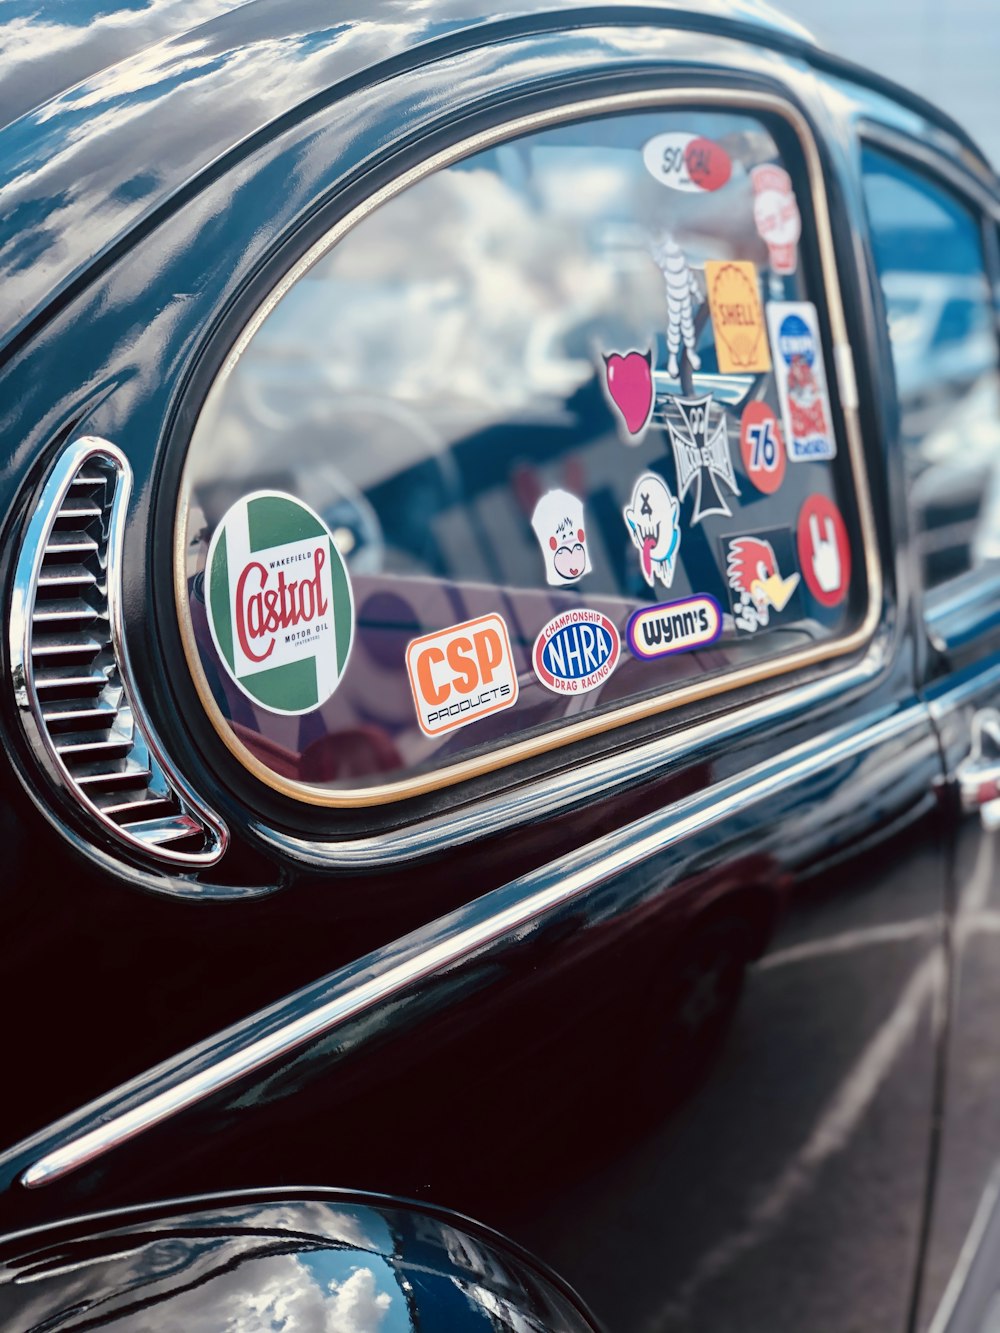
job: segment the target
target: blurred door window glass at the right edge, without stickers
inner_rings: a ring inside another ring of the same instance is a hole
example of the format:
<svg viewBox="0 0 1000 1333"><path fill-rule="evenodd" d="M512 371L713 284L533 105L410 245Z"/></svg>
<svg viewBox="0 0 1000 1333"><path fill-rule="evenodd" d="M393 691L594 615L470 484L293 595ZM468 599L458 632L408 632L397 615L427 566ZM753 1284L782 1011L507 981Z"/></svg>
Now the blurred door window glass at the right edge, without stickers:
<svg viewBox="0 0 1000 1333"><path fill-rule="evenodd" d="M864 191L889 321L924 587L1000 559L1000 368L983 219L865 147Z"/></svg>

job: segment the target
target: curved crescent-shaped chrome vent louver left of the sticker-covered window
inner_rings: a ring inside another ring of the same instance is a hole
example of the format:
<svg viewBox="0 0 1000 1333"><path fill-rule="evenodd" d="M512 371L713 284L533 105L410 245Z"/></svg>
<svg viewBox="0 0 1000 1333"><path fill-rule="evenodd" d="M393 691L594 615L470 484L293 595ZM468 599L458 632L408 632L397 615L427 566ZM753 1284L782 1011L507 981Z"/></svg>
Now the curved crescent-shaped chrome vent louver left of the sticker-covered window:
<svg viewBox="0 0 1000 1333"><path fill-rule="evenodd" d="M28 521L11 600L11 665L25 734L49 776L117 838L175 865L211 865L225 825L167 764L141 716L121 628L128 460L68 445Z"/></svg>

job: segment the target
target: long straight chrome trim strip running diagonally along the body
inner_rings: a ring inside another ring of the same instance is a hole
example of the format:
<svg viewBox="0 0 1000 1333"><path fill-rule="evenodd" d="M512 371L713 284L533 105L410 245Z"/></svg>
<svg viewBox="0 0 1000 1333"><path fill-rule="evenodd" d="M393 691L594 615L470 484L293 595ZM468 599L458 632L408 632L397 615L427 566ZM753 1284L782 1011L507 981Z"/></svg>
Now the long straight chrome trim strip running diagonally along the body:
<svg viewBox="0 0 1000 1333"><path fill-rule="evenodd" d="M667 810L643 816L487 893L423 930L359 958L313 986L209 1038L201 1048L151 1070L119 1093L119 1100L129 1094L137 1097L127 1110L116 1113L113 1104L108 1105L111 1098L93 1104L87 1113L100 1116L97 1126L36 1158L21 1173L20 1182L35 1189L61 1180L179 1112L291 1054L305 1042L327 1036L348 1020L385 1004L423 978L469 960L515 930L537 925L547 913L681 840L733 813L745 818L755 802L793 788L811 774L864 753L873 745L903 737L916 726L929 730L927 706L919 702L887 712L875 721L865 718L863 724L841 726L768 758L745 773L725 778L708 792L677 801ZM269 1025L271 1030L247 1040L245 1029L257 1029L261 1024ZM209 1052L207 1068L185 1074L185 1068L197 1064ZM145 1089L151 1081L165 1086L149 1094Z"/></svg>

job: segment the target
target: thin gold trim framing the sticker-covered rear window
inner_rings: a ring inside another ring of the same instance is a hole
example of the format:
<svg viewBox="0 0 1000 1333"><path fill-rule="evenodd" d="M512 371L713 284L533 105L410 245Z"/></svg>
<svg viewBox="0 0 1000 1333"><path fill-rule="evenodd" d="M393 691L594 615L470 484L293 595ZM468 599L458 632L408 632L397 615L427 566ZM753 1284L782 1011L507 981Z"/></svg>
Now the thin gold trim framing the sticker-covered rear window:
<svg viewBox="0 0 1000 1333"><path fill-rule="evenodd" d="M827 319L833 349L833 365L828 373L833 372L836 389L840 393L840 405L847 431L847 448L851 460L851 476L855 485L859 521L861 528L861 544L864 548L864 571L868 587L868 605L861 623L848 635L827 640L815 647L797 649L771 661L755 664L752 666L737 666L721 676L713 676L697 684L688 684L671 689L653 698L637 700L625 704L612 712L597 717L581 718L569 725L559 726L540 736L527 740L513 741L509 745L499 746L489 753L477 754L471 758L459 760L433 772L421 773L415 777L401 778L395 782L381 782L373 786L329 790L311 782L296 782L280 777L263 764L233 733L228 718L216 704L208 685L204 668L195 641L191 612L188 608L188 587L185 568L185 535L188 524L188 461L184 464L180 479L180 493L175 517L173 540L173 592L177 608L177 623L180 627L184 656L188 663L195 688L201 706L209 721L215 726L227 749L243 764L248 772L259 778L265 786L283 796L289 796L308 805L325 806L328 809L360 809L364 806L387 805L408 797L424 796L467 778L479 777L496 769L507 768L521 760L545 754L549 750L560 749L573 741L601 732L625 726L629 722L652 717L669 709L680 708L684 704L696 702L713 694L723 694L743 685L751 685L776 676L784 676L801 666L816 665L832 657L841 657L865 648L872 639L881 611L883 580L879 561L875 516L872 500L868 489L865 473L864 448L861 443L861 429L859 420L857 389L853 380L853 356L847 335L847 321L840 299L840 284L837 275L836 248L833 233L829 225L829 212L827 204L827 189L823 179L823 167L819 151L805 117L784 99L771 93L753 93L739 89L719 88L684 88L684 89L645 89L633 93L619 93L605 97L592 97L583 101L567 103L563 107L547 111L532 112L508 120L501 125L480 131L468 139L444 148L431 157L403 172L393 181L383 185L373 195L347 213L336 223L305 255L284 275L272 288L271 293L253 313L231 352L225 357L221 369L205 396L205 401L199 412L201 416L211 409L212 404L221 395L228 377L235 371L240 356L256 335L264 320L285 293L316 264L328 251L331 251L349 231L352 231L369 213L375 212L389 199L401 193L409 185L425 176L449 167L452 163L471 157L484 148L517 139L521 135L551 125L565 124L568 121L587 120L596 116L605 116L613 112L628 111L655 111L657 108L675 109L679 107L723 108L733 112L769 112L780 116L793 131L805 161L812 197L813 215L816 220L816 239L820 252L820 269L823 276L823 292L827 303ZM197 423L195 424L197 432ZM195 432L192 432L192 439ZM189 443L188 443L189 449Z"/></svg>

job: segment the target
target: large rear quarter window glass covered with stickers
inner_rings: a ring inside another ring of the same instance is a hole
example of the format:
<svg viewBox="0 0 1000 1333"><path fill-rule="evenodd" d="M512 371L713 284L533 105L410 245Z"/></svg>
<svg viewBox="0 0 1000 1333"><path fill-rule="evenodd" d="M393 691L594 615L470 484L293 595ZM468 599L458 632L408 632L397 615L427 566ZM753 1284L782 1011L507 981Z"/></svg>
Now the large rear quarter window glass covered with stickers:
<svg viewBox="0 0 1000 1333"><path fill-rule="evenodd" d="M217 725L353 790L825 653L864 601L829 364L779 121L607 116L409 185L203 407L181 599Z"/></svg>

